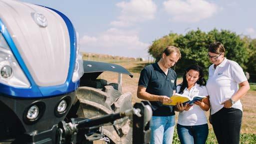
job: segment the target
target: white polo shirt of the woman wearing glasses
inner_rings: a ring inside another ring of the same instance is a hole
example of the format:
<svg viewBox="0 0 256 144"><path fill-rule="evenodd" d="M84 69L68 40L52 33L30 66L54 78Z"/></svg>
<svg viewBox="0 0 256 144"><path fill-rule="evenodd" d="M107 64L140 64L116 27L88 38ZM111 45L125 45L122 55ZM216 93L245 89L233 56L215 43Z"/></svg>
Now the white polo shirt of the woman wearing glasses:
<svg viewBox="0 0 256 144"><path fill-rule="evenodd" d="M246 81L246 75L238 63L224 59L223 62L214 69L214 65L209 67L209 78L206 84L210 96L211 114L221 110L222 103L230 99L239 89L239 83ZM242 109L242 103L238 100L233 108Z"/></svg>

